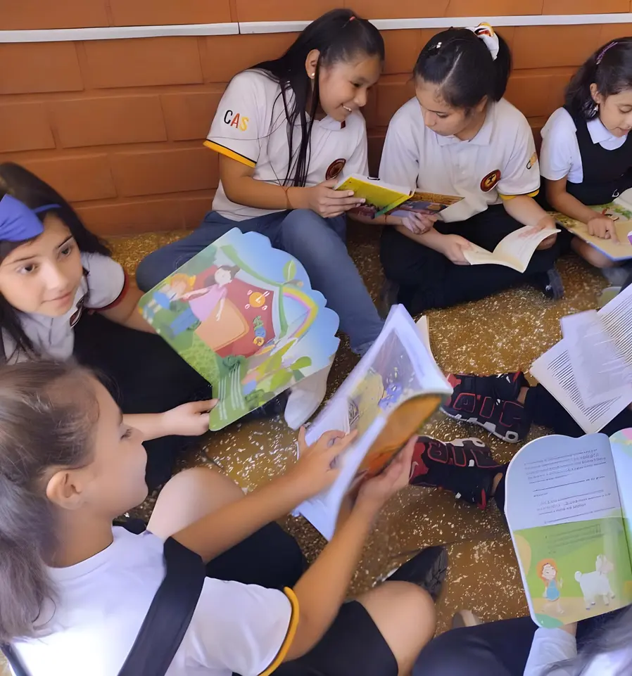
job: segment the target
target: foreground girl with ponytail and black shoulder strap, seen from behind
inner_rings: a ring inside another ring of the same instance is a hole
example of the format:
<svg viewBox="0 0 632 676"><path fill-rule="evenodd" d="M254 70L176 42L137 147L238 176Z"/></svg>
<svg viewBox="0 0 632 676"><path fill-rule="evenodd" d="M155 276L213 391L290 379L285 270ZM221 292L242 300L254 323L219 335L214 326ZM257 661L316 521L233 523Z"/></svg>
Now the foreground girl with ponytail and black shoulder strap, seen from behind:
<svg viewBox="0 0 632 676"><path fill-rule="evenodd" d="M148 530L134 535L112 520L147 495L141 432L89 371L68 362L6 366L0 645L29 676L116 676L165 576L165 540L215 567L222 552L331 485L334 460L353 438L328 432L305 447L301 435L298 463L245 497L215 471L184 471L161 492ZM438 592L433 565L445 559L443 548L424 550L391 582L343 601L377 514L407 483L411 453L409 444L360 487L293 589L206 578L169 675L410 673L434 634L434 604L422 585Z"/></svg>

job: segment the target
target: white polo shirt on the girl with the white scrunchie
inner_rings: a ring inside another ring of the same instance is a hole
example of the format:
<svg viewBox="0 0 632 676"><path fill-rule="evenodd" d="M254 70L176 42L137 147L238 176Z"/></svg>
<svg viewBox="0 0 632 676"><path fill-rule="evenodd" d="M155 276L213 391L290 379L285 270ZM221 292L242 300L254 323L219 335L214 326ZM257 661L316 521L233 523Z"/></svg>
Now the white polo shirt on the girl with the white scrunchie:
<svg viewBox="0 0 632 676"><path fill-rule="evenodd" d="M531 127L504 98L488 106L483 126L470 141L426 127L419 101L411 98L388 125L379 177L407 189L464 198L445 212L445 221L452 222L540 189Z"/></svg>

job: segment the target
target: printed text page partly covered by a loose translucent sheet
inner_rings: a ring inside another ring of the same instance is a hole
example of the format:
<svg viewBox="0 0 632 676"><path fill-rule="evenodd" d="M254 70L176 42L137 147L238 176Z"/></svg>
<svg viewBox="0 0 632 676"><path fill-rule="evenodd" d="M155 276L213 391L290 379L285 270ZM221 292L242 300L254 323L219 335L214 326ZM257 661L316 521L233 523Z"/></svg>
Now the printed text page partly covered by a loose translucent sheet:
<svg viewBox="0 0 632 676"><path fill-rule="evenodd" d="M566 340L553 345L531 365L531 374L573 416L586 434L598 432L632 401L627 395L605 396L598 404L583 402Z"/></svg>

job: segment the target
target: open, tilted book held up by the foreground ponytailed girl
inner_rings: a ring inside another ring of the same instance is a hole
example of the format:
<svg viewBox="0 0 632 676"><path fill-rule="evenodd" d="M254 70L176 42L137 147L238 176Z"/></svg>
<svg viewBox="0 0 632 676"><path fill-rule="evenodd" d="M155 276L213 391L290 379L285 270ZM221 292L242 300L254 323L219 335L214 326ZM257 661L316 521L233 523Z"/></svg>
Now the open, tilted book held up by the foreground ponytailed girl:
<svg viewBox="0 0 632 676"><path fill-rule="evenodd" d="M328 540L350 485L383 471L452 393L426 340L424 324L418 329L403 305L394 305L375 343L308 428L310 445L327 431L358 431L336 459L334 484L297 509Z"/></svg>

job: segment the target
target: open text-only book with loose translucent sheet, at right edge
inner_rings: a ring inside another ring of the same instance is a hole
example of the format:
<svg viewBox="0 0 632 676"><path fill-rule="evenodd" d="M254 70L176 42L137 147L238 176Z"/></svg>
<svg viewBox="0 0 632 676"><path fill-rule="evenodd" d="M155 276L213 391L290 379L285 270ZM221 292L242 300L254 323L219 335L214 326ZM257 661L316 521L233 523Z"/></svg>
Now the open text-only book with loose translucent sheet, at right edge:
<svg viewBox="0 0 632 676"><path fill-rule="evenodd" d="M531 374L584 432L597 432L632 402L632 286L601 310L564 317L562 336Z"/></svg>

